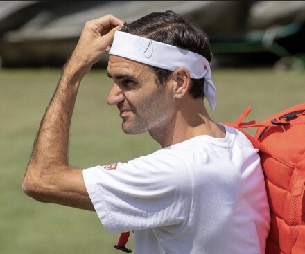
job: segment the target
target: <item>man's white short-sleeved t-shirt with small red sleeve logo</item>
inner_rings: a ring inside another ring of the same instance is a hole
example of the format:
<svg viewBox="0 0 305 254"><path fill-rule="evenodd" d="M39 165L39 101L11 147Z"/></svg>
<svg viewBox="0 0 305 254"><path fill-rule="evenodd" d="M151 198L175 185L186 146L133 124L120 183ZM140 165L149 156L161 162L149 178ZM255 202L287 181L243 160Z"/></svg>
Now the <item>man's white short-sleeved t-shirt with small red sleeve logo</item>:
<svg viewBox="0 0 305 254"><path fill-rule="evenodd" d="M128 163L83 170L105 230L136 254L265 253L269 206L257 150L225 126Z"/></svg>

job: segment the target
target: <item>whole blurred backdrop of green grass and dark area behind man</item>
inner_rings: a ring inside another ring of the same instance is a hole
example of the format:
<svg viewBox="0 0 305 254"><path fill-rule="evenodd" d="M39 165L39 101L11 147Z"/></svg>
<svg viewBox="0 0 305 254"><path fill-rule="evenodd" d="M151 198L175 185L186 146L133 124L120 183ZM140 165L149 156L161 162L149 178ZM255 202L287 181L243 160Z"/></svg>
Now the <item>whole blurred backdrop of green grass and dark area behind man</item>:
<svg viewBox="0 0 305 254"><path fill-rule="evenodd" d="M119 234L105 233L94 212L38 203L21 183L85 21L107 13L133 21L165 10L193 17L209 35L218 89L216 110L209 111L214 120L235 121L248 105L248 120L263 120L304 102L305 1L0 1L0 253L117 253ZM116 107L107 105L106 66L107 55L82 80L71 123L74 167L160 148L148 134L122 133Z"/></svg>

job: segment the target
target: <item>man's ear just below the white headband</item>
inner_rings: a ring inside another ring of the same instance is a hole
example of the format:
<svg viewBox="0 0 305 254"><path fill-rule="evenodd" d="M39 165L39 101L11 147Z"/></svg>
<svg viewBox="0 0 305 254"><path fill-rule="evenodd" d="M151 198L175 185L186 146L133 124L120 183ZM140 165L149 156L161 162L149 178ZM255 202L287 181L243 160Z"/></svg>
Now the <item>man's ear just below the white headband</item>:
<svg viewBox="0 0 305 254"><path fill-rule="evenodd" d="M191 84L191 76L189 71L184 67L179 67L173 72L173 80L175 80L175 98L182 98Z"/></svg>

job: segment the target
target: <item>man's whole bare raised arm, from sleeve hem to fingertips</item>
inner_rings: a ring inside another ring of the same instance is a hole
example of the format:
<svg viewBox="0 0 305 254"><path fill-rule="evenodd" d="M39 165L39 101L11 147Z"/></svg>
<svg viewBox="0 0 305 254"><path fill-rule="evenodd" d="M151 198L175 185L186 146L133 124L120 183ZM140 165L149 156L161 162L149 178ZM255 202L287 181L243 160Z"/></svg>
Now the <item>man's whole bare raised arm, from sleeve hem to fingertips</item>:
<svg viewBox="0 0 305 254"><path fill-rule="evenodd" d="M22 188L37 201L94 210L82 170L69 167L69 127L80 81L109 50L122 21L112 15L87 21L40 123Z"/></svg>

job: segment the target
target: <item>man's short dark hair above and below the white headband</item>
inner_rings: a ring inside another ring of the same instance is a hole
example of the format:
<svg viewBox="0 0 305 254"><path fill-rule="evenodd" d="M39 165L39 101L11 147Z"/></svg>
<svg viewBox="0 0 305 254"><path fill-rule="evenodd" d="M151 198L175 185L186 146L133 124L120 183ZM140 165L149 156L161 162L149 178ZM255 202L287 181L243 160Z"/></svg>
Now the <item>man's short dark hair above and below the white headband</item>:
<svg viewBox="0 0 305 254"><path fill-rule="evenodd" d="M125 23L121 31L198 53L211 62L209 39L202 28L191 19L184 19L175 12L150 13L132 23ZM157 84L164 84L171 71L154 66L152 68L156 73ZM203 97L204 78L191 81L191 96Z"/></svg>

